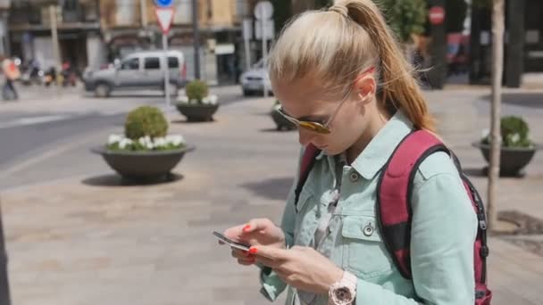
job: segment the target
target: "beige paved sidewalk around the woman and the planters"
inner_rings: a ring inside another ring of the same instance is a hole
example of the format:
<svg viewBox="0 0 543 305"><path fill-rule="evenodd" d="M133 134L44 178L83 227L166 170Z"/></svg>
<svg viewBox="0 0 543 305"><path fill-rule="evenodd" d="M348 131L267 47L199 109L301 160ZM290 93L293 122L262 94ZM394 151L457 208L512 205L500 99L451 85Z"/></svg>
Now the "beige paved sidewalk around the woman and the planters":
<svg viewBox="0 0 543 305"><path fill-rule="evenodd" d="M440 133L475 174L470 143L488 125L486 91L429 92ZM196 151L161 185L121 185L111 172L26 185L2 196L13 304L264 304L255 268L234 264L211 232L252 217L278 221L292 182L297 133L275 132L272 99L222 107L213 123L176 122ZM521 111L517 106L504 111ZM526 116L543 143L541 108ZM117 131L117 130L112 130ZM104 139L106 138L104 134ZM89 143L93 146L96 143ZM88 154L81 161L97 158ZM68 165L77 166L77 164ZM543 153L524 179L500 182L498 208L543 219ZM494 304L541 304L543 256L490 240Z"/></svg>

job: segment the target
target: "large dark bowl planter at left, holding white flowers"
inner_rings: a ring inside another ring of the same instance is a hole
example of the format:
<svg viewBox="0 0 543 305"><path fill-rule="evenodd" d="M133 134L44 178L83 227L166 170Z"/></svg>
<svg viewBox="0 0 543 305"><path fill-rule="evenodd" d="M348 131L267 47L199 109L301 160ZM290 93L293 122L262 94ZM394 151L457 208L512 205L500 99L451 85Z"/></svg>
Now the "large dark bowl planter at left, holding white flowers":
<svg viewBox="0 0 543 305"><path fill-rule="evenodd" d="M121 177L148 181L168 177L185 153L194 149L194 146L186 146L172 151L116 152L96 147L91 151L102 155L104 161Z"/></svg>

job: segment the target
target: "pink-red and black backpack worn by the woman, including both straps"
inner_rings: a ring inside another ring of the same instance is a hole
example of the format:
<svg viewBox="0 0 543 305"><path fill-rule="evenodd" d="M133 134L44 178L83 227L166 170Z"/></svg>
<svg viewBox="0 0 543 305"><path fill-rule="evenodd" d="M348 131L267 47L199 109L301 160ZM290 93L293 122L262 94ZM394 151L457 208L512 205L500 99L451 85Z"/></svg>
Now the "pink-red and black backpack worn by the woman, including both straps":
<svg viewBox="0 0 543 305"><path fill-rule="evenodd" d="M308 145L302 157L300 176L295 190L295 210L305 180L309 176L315 157L320 153ZM489 305L492 293L487 286L487 220L480 195L465 176L460 162L436 136L425 130L414 130L397 145L390 159L380 170L377 186L377 216L383 242L402 276L412 279L410 260L411 241L411 192L414 175L419 165L433 152L447 152L455 161L464 187L479 220L477 237L473 244L475 305Z"/></svg>

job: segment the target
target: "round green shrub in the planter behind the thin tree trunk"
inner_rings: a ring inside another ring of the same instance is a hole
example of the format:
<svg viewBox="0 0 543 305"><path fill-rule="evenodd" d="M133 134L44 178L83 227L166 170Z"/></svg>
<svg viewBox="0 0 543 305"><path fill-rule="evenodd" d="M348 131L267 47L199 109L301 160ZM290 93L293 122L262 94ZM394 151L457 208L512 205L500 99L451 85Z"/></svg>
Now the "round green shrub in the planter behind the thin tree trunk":
<svg viewBox="0 0 543 305"><path fill-rule="evenodd" d="M500 133L502 137L502 146L504 147L531 147L528 123L520 117L507 116L500 121ZM489 144L489 136L481 141L483 144Z"/></svg>

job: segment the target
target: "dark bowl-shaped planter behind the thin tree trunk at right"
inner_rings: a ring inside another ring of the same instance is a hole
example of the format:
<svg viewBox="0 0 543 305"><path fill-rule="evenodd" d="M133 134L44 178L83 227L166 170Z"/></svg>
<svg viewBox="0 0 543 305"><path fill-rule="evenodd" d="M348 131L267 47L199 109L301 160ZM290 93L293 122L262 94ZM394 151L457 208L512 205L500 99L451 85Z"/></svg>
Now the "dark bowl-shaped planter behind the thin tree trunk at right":
<svg viewBox="0 0 543 305"><path fill-rule="evenodd" d="M483 157L487 162L490 161L490 145L481 144L480 142L472 143L473 147L480 149ZM504 177L519 177L522 176L522 169L524 169L531 161L531 158L535 152L539 149L539 146L531 148L521 147L502 147L501 148L501 161L500 161L500 176Z"/></svg>

